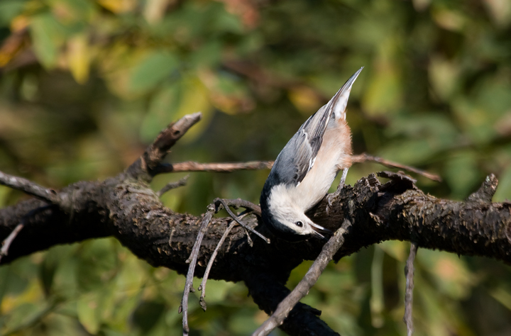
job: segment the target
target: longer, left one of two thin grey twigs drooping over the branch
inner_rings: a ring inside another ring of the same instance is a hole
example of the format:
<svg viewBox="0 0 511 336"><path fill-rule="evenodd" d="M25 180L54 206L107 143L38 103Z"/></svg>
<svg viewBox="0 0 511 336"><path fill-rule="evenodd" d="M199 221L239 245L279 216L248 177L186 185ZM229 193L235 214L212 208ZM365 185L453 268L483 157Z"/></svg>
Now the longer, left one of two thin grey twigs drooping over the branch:
<svg viewBox="0 0 511 336"><path fill-rule="evenodd" d="M193 289L193 276L195 272L195 266L197 265L197 256L199 255L200 246L202 244L202 238L204 237L204 233L206 233L207 225L211 221L213 214L215 213L214 204L209 204L207 208L207 213L204 214L204 218L202 219L201 226L199 228L199 233L197 234L197 238L195 239L194 245L192 247L192 253L187 259L187 263L189 263L187 278L185 282L185 290L183 291L183 296L181 300L180 308L178 309L179 313L183 314L183 336L187 336L189 333L188 327L188 296L190 291L194 291Z"/></svg>

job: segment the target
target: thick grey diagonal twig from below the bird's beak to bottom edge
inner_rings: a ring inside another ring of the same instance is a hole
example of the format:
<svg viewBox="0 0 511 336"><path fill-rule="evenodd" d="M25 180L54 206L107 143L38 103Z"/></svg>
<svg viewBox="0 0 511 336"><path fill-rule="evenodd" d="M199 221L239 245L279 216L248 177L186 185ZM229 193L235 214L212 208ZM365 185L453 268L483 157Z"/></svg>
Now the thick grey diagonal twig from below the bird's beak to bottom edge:
<svg viewBox="0 0 511 336"><path fill-rule="evenodd" d="M323 247L321 253L319 253L318 257L314 261L314 264L309 268L307 274L303 277L302 281L292 290L292 292L286 296L282 302L279 303L273 315L268 318L268 320L263 323L257 330L252 334L252 336L266 336L269 335L272 330L281 325L287 315L289 315L290 311L293 307L300 301L304 296L309 293L309 290L316 284L317 279L323 273L326 265L329 264L330 260L334 256L334 254L341 248L344 244L344 233L351 226L351 222L348 219L344 220L344 223L341 225L341 228L336 230L334 235L330 237L329 241Z"/></svg>

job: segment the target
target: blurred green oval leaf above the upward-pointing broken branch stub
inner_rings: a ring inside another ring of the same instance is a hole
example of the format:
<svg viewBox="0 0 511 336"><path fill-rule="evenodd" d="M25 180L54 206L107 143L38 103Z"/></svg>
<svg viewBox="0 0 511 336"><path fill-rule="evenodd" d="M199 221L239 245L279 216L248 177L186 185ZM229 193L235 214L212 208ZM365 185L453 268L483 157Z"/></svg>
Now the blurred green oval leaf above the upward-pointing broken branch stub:
<svg viewBox="0 0 511 336"><path fill-rule="evenodd" d="M131 71L129 89L145 93L155 88L165 77L177 69L179 61L167 51L151 52Z"/></svg>

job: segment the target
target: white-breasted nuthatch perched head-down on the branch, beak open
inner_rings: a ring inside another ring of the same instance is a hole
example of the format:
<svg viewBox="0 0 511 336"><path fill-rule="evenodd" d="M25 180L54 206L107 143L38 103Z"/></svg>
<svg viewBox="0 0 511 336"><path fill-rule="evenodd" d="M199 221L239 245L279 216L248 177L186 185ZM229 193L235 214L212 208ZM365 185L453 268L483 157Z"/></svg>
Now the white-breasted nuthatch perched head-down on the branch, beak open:
<svg viewBox="0 0 511 336"><path fill-rule="evenodd" d="M260 196L263 221L285 240L327 232L305 213L324 198L337 173L351 167L351 131L346 105L359 69L335 96L319 108L275 159Z"/></svg>

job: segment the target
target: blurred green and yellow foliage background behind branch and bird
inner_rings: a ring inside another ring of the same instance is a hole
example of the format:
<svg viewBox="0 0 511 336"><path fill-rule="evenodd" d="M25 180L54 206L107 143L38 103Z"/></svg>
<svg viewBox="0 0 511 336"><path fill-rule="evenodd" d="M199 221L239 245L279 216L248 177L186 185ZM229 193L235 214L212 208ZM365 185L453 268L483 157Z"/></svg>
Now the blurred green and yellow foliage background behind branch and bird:
<svg viewBox="0 0 511 336"><path fill-rule="evenodd" d="M364 66L348 104L356 154L439 174L418 186L454 200L494 173L494 200L511 198L507 0L1 0L0 41L0 170L45 186L114 176L196 111L171 162L275 159ZM348 183L383 169L356 164ZM267 176L192 173L163 201L194 215L215 197L258 202ZM0 206L23 198L0 186ZM331 264L303 302L343 336L405 335L408 249ZM419 250L415 267L414 335L511 335L509 266ZM54 247L0 267L0 334L179 335L183 286L114 239ZM209 281L191 335L249 335L266 315L247 293Z"/></svg>

